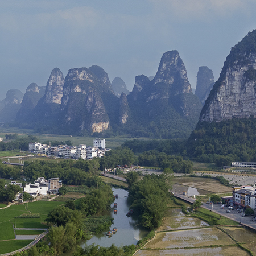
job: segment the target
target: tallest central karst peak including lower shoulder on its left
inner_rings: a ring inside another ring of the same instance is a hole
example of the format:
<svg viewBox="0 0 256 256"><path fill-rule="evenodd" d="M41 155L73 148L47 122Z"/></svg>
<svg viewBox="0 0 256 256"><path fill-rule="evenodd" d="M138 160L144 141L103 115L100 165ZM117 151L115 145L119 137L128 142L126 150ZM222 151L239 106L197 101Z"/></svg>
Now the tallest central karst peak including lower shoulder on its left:
<svg viewBox="0 0 256 256"><path fill-rule="evenodd" d="M127 100L134 126L138 125L138 134L143 136L187 137L195 128L201 110L177 51L163 54L151 81L144 75L135 77ZM141 133L141 127L147 133Z"/></svg>

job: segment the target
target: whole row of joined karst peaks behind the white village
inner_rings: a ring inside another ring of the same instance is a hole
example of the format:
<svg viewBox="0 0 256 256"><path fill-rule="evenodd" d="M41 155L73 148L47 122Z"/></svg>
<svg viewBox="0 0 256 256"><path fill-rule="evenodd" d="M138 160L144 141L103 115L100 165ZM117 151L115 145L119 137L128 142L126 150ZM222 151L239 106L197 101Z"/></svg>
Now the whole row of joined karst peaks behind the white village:
<svg viewBox="0 0 256 256"><path fill-rule="evenodd" d="M201 103L177 51L164 53L151 80L135 77L130 93L122 79L112 83L97 65L69 69L65 79L54 68L46 86L28 86L15 123L40 133L184 138L199 119Z"/></svg>

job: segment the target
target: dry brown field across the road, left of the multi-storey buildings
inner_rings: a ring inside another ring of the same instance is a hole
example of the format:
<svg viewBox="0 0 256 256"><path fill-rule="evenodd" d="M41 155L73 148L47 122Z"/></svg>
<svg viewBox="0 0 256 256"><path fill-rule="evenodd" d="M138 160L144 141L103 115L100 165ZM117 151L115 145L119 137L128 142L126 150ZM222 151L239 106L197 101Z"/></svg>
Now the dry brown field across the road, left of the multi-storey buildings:
<svg viewBox="0 0 256 256"><path fill-rule="evenodd" d="M200 178L200 177L174 177L173 190L177 193L187 191L189 187L196 188L201 195L210 193L228 193L232 189L222 185L219 181L214 179Z"/></svg>

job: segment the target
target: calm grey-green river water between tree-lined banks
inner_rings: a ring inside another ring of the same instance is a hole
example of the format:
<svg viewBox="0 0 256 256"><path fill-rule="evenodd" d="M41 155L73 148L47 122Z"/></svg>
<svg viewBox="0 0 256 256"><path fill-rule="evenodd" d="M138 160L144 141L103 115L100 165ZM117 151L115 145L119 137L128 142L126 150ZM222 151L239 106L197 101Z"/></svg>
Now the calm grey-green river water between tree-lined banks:
<svg viewBox="0 0 256 256"><path fill-rule="evenodd" d="M85 245L100 245L104 247L109 247L114 243L116 246L124 245L136 245L136 243L147 235L146 230L142 230L137 225L138 222L133 219L133 217L127 217L126 213L129 211L129 205L127 204L128 191L123 189L112 188L114 195L118 194L119 198L115 199L117 203L117 214L114 214L114 203L112 204L111 217L114 218L113 225L110 229L117 227L117 233L113 234L111 237L106 236L106 232L102 232L93 236L86 243L82 243L82 247Z"/></svg>

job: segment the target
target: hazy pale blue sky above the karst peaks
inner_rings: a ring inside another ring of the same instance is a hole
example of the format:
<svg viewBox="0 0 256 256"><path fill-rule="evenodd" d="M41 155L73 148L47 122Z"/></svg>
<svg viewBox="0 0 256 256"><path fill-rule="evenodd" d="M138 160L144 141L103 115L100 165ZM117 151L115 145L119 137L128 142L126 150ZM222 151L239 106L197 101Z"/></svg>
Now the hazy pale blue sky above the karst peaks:
<svg viewBox="0 0 256 256"><path fill-rule="evenodd" d="M255 0L0 0L0 99L46 85L53 68L99 65L129 90L177 50L192 88L198 68L218 79L230 48L256 29Z"/></svg>

